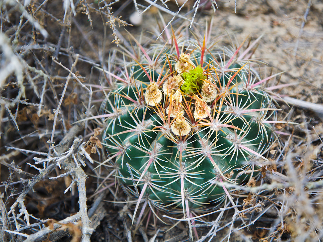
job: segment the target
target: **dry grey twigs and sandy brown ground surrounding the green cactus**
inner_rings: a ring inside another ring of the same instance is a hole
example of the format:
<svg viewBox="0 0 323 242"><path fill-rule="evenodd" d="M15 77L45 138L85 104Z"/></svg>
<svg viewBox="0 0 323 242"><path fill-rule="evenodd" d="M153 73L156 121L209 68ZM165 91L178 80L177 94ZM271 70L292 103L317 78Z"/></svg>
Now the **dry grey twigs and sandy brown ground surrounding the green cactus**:
<svg viewBox="0 0 323 242"><path fill-rule="evenodd" d="M256 54L277 72L287 71L282 84L298 83L276 90L296 105L277 100L281 119L297 123L281 127L288 134L282 135L281 152L272 151L262 179L232 187L239 212L227 203L196 218L199 241L303 242L323 237L323 19L317 14L323 6L316 1L267 2L237 1L238 15L235 1L216 1L215 14L190 2L182 8L174 2L168 8L161 2L137 2L139 10L148 9L143 14L156 37L165 34L171 21L175 28L194 20L193 31L201 29L210 15L218 29L225 25L231 33L242 28L236 38L247 32L255 39L259 26L272 26ZM146 225L146 218L132 230L131 201L124 203L127 198L116 191L108 169L95 169L103 159L96 128L103 124L87 118L99 114L113 82L102 69L119 71L113 48L134 44L125 30L136 37L141 33L141 27L128 26L128 18L120 17L129 16L133 2L2 0L0 6L0 241L188 241L187 224L173 227L173 219L165 225L151 218ZM156 8L162 16L157 30ZM218 29L215 35L223 33ZM232 43L226 38L224 43Z"/></svg>

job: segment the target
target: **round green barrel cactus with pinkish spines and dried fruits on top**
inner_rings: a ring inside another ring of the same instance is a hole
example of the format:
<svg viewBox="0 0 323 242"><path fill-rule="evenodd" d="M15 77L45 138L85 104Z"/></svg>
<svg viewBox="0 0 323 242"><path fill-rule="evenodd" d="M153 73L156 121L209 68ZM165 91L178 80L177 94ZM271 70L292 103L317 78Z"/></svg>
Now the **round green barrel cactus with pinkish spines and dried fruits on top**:
<svg viewBox="0 0 323 242"><path fill-rule="evenodd" d="M219 205L218 182L255 176L254 160L266 159L273 140L275 106L253 63L192 43L178 43L181 54L177 46L147 49L102 104L108 161L137 207L149 201L176 213Z"/></svg>

